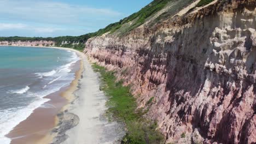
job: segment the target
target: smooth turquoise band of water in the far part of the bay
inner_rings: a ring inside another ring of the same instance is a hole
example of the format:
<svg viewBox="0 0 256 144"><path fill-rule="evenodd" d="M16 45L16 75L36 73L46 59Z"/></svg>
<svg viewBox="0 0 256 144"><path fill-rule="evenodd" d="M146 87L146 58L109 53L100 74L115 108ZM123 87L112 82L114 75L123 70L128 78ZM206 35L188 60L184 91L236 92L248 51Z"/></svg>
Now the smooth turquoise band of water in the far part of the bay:
<svg viewBox="0 0 256 144"><path fill-rule="evenodd" d="M35 47L0 47L0 68L51 70L56 65L57 57L68 58L69 53L57 49L38 49Z"/></svg>

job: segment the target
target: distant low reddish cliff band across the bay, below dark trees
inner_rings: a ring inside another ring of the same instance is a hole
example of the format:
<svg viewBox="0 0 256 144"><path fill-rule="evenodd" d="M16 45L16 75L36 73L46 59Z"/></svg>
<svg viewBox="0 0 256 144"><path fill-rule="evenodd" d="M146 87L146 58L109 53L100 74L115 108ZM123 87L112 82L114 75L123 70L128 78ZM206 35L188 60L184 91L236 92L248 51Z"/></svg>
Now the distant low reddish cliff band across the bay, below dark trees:
<svg viewBox="0 0 256 144"><path fill-rule="evenodd" d="M12 45L12 46L54 46L54 41L0 41L0 45Z"/></svg>

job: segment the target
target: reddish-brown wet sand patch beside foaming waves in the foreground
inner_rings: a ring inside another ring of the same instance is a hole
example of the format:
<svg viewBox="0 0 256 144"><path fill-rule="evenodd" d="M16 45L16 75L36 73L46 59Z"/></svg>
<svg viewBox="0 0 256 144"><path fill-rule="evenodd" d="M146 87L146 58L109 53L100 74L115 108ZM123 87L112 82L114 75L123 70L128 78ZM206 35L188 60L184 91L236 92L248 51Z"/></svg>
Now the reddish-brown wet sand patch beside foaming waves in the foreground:
<svg viewBox="0 0 256 144"><path fill-rule="evenodd" d="M55 106L54 108L45 109L39 107L34 110L25 121L16 125L16 127L7 135L7 137L11 139L11 143L36 143L50 133L51 129L57 124L57 113L59 113L62 107L67 103L65 98L60 97L63 91L65 91L65 89L45 97L50 99L46 104L51 104ZM47 139L48 141L51 141L51 137L48 137Z"/></svg>

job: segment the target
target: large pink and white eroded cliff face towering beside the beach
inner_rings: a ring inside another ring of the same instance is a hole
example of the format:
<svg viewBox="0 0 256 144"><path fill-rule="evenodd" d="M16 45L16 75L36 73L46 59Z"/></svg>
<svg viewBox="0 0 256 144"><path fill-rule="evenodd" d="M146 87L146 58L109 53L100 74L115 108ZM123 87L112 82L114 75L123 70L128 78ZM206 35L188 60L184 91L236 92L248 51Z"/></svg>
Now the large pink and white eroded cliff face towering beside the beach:
<svg viewBox="0 0 256 144"><path fill-rule="evenodd" d="M196 13L86 43L118 70L166 143L256 143L256 2L218 1ZM185 137L182 134L185 134Z"/></svg>

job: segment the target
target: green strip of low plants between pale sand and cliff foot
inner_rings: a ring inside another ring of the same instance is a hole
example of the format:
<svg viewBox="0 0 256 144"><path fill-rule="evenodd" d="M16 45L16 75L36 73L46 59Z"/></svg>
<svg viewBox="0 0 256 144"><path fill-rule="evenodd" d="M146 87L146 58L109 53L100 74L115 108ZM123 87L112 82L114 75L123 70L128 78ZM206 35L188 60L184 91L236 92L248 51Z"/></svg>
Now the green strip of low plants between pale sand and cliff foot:
<svg viewBox="0 0 256 144"><path fill-rule="evenodd" d="M130 88L124 87L123 81L116 82L114 71L106 71L96 63L92 67L101 74L101 90L109 98L107 113L111 113L114 119L123 121L126 125L127 133L123 143L164 143L164 136L156 129L157 123L143 118L143 110L136 110L136 100L130 93Z"/></svg>

